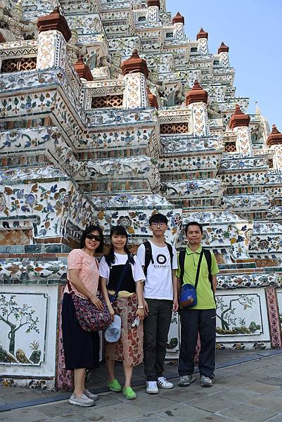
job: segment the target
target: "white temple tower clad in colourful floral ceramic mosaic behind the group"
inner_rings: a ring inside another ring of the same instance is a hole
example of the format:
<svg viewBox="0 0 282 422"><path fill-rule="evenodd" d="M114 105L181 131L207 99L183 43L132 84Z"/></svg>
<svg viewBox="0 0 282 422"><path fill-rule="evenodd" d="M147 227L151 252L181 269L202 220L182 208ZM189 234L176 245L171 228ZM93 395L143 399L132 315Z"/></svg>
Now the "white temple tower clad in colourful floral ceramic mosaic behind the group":
<svg viewBox="0 0 282 422"><path fill-rule="evenodd" d="M167 216L167 241L178 249L186 245L184 225L203 224L203 245L221 269L219 346L281 347L281 141L267 145L269 124L258 108L248 127L229 127L236 105L248 113L250 102L236 94L229 53L186 35L165 0L160 8L139 0L2 4L0 306L15 301L20 312L25 295L30 329L19 327L12 347L0 321L5 382L71 388L58 322L67 253L91 222L106 236L122 224L136 249L150 237L155 212ZM37 28L57 5L72 30L69 41L59 27ZM122 74L134 49L146 60L147 78ZM80 54L93 80L79 78ZM196 79L207 104L186 106ZM178 352L174 314L168 356Z"/></svg>

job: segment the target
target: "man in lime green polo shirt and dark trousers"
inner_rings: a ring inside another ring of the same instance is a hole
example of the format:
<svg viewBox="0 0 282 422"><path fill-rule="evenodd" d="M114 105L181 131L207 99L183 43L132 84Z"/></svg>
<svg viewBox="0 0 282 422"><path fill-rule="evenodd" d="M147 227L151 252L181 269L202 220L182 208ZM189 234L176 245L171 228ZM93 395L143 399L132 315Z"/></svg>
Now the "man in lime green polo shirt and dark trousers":
<svg viewBox="0 0 282 422"><path fill-rule="evenodd" d="M185 234L188 241L184 261L183 283L195 285L196 272L202 247L203 226L197 222L186 225ZM200 371L200 383L203 387L212 387L215 368L215 321L216 304L214 293L217 288L217 274L219 269L214 253L211 253L212 284L209 279L209 271L205 255L200 263L198 279L197 304L193 307L181 309L181 345L179 354L179 383L180 387L186 387L195 381L194 354L200 334L200 356L198 368ZM180 276L180 268L177 277Z"/></svg>

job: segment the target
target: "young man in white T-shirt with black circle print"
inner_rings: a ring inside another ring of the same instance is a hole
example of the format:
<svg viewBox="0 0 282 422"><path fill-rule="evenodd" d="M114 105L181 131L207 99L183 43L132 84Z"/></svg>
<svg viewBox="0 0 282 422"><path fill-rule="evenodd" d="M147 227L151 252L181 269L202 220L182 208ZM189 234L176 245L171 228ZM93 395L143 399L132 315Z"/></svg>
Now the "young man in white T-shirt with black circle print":
<svg viewBox="0 0 282 422"><path fill-rule="evenodd" d="M146 274L144 286L144 366L147 377L146 392L158 394L159 388L173 388L163 376L167 335L172 310L178 309L177 251L165 242L167 217L152 215L149 219L153 238L140 245L137 257ZM149 261L150 259L150 261ZM149 261L149 262L148 262Z"/></svg>

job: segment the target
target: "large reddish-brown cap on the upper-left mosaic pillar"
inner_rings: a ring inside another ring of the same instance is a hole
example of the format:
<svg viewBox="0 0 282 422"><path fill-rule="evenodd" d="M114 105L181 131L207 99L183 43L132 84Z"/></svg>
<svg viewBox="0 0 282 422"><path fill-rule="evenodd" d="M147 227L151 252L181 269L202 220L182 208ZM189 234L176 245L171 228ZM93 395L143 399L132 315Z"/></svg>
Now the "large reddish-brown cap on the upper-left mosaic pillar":
<svg viewBox="0 0 282 422"><path fill-rule="evenodd" d="M72 32L70 32L65 16L60 14L58 7L54 8L53 12L49 15L40 16L37 20L37 28L39 32L54 30L62 32L65 41L68 41L72 37Z"/></svg>

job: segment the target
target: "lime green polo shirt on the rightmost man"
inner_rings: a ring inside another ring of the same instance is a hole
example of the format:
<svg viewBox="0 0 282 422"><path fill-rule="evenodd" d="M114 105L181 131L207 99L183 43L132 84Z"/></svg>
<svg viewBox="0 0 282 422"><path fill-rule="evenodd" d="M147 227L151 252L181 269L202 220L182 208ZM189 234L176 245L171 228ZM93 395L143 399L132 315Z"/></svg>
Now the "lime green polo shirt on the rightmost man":
<svg viewBox="0 0 282 422"><path fill-rule="evenodd" d="M198 268L198 262L200 257L200 252L202 246L193 252L190 248L186 248L185 262L184 262L184 284L193 284L195 286L196 281L196 272ZM211 273L214 276L219 273L219 268L217 267L217 261L212 254L212 269ZM178 260L178 256L177 256ZM180 268L177 269L177 277L180 276ZM200 274L197 286L197 305L191 307L190 309L215 309L214 295L212 293L212 287L209 280L209 271L207 268L207 261L205 260L205 255L203 255L202 262L200 263Z"/></svg>

